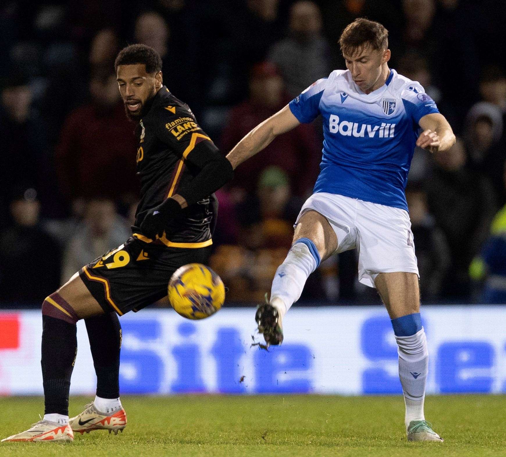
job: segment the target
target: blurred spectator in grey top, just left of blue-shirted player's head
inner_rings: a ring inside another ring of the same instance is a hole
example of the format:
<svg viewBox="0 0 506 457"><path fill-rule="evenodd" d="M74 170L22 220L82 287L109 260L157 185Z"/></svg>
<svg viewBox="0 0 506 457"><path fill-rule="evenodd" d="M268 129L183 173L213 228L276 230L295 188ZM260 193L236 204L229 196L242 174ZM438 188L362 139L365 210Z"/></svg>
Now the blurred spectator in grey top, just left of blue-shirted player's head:
<svg viewBox="0 0 506 457"><path fill-rule="evenodd" d="M280 70L290 97L297 97L317 79L330 73L330 48L321 34L321 13L306 0L290 8L288 34L271 48L267 60Z"/></svg>

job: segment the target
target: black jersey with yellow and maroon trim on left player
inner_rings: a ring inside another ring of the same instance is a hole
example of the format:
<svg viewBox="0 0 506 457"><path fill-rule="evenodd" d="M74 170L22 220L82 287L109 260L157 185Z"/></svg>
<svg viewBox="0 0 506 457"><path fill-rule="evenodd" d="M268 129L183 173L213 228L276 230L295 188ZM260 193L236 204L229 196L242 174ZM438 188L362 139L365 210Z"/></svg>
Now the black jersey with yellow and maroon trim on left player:
<svg viewBox="0 0 506 457"><path fill-rule="evenodd" d="M136 135L137 172L141 179L141 201L137 207L134 237L149 240L142 234L140 226L146 213L165 199L175 195L198 173L199 168L188 160L188 154L201 142L217 150L210 138L202 131L188 105L176 98L162 86L150 102L146 114L142 116ZM165 235L159 240L168 247L208 246L210 241L210 222L213 213L211 195L188 206L182 214L171 220Z"/></svg>

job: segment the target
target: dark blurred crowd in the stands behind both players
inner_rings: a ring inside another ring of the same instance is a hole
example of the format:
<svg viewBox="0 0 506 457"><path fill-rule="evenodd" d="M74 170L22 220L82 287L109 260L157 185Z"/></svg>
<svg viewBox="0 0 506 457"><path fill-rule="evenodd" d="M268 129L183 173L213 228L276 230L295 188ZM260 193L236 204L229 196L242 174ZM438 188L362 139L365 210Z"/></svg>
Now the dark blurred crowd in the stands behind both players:
<svg viewBox="0 0 506 457"><path fill-rule="evenodd" d="M113 68L141 42L223 153L332 69L357 17L390 32L391 68L419 81L457 134L415 151L406 189L424 303L506 303L506 2L80 0L0 3L0 307L40 306L130 235L134 126ZM319 171L321 124L301 125L220 190L211 266L230 302L263 300ZM301 301L379 303L355 251Z"/></svg>

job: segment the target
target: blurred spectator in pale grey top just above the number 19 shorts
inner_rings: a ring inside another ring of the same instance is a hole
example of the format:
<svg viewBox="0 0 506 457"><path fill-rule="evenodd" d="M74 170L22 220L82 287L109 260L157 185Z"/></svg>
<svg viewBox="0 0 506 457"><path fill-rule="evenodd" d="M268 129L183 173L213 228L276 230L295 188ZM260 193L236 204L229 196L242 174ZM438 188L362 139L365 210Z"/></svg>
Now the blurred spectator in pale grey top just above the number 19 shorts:
<svg viewBox="0 0 506 457"><path fill-rule="evenodd" d="M116 213L111 200L89 200L85 218L76 228L65 250L61 283L79 271L82 266L124 243L132 233L126 221Z"/></svg>

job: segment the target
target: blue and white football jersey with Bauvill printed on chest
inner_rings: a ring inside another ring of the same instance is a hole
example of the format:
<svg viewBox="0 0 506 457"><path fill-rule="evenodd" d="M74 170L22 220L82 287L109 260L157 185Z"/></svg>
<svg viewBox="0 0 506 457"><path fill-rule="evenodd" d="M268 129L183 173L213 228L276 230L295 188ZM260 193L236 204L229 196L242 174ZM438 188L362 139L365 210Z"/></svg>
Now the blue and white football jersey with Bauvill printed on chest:
<svg viewBox="0 0 506 457"><path fill-rule="evenodd" d="M349 70L334 70L289 103L300 122L323 120L323 156L314 192L345 195L407 211L404 189L418 121L439 113L416 81L390 71L364 94Z"/></svg>

